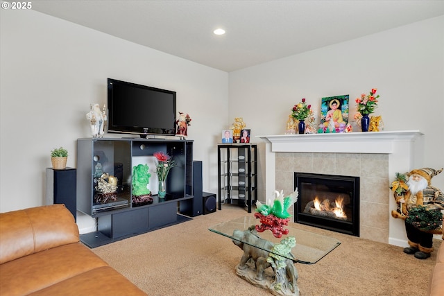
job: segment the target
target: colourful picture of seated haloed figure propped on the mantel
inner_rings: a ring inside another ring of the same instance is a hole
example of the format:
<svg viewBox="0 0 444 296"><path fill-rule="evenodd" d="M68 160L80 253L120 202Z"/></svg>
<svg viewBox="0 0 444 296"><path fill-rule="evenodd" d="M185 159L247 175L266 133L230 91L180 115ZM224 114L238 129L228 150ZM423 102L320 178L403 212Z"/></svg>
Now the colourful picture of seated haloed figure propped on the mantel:
<svg viewBox="0 0 444 296"><path fill-rule="evenodd" d="M348 123L348 103L348 94L322 98L318 132L344 132Z"/></svg>

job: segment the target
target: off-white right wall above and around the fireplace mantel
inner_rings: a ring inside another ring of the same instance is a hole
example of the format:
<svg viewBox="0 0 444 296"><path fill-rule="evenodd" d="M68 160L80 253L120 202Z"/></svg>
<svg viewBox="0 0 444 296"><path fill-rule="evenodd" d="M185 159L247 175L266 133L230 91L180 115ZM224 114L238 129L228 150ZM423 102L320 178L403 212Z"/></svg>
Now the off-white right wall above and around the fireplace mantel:
<svg viewBox="0 0 444 296"><path fill-rule="evenodd" d="M425 133L423 165L443 168L444 16L232 72L229 117L244 117L252 137L284 134L301 98L319 117L321 98L350 94L352 118L355 98L372 88L384 130ZM444 190L444 173L432 184ZM259 199L274 190L262 187Z"/></svg>

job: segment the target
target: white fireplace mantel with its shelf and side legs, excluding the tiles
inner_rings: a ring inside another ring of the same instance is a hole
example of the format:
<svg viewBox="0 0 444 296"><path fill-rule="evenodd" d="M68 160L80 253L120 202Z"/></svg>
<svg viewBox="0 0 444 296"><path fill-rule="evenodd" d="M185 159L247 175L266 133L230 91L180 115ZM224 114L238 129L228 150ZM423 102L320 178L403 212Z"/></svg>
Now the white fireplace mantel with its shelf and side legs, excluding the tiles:
<svg viewBox="0 0 444 296"><path fill-rule="evenodd" d="M350 132L332 134L278 134L257 136L265 142L264 187L266 196L275 191L275 153L366 153L388 155L388 180L396 172L407 172L423 164L423 137L419 130ZM389 209L395 209L393 195L387 189ZM390 211L387 215L390 216ZM407 246L400 219L389 220L388 243Z"/></svg>

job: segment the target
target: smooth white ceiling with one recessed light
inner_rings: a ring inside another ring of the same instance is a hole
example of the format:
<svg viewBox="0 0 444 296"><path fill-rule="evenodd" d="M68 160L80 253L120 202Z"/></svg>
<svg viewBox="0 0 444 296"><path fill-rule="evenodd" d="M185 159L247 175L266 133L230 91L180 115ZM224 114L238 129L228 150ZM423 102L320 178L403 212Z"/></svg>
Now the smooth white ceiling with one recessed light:
<svg viewBox="0 0 444 296"><path fill-rule="evenodd" d="M222 71L444 15L444 1L32 1L33 10ZM216 36L215 28L225 35Z"/></svg>

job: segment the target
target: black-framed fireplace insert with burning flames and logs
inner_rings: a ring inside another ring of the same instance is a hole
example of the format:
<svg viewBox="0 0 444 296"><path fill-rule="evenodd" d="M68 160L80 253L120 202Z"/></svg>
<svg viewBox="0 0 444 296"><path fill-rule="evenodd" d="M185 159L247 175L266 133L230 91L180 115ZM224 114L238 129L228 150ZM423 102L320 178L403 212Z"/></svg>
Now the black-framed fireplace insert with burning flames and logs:
<svg viewBox="0 0 444 296"><path fill-rule="evenodd" d="M295 222L359 236L359 177L294 173Z"/></svg>

